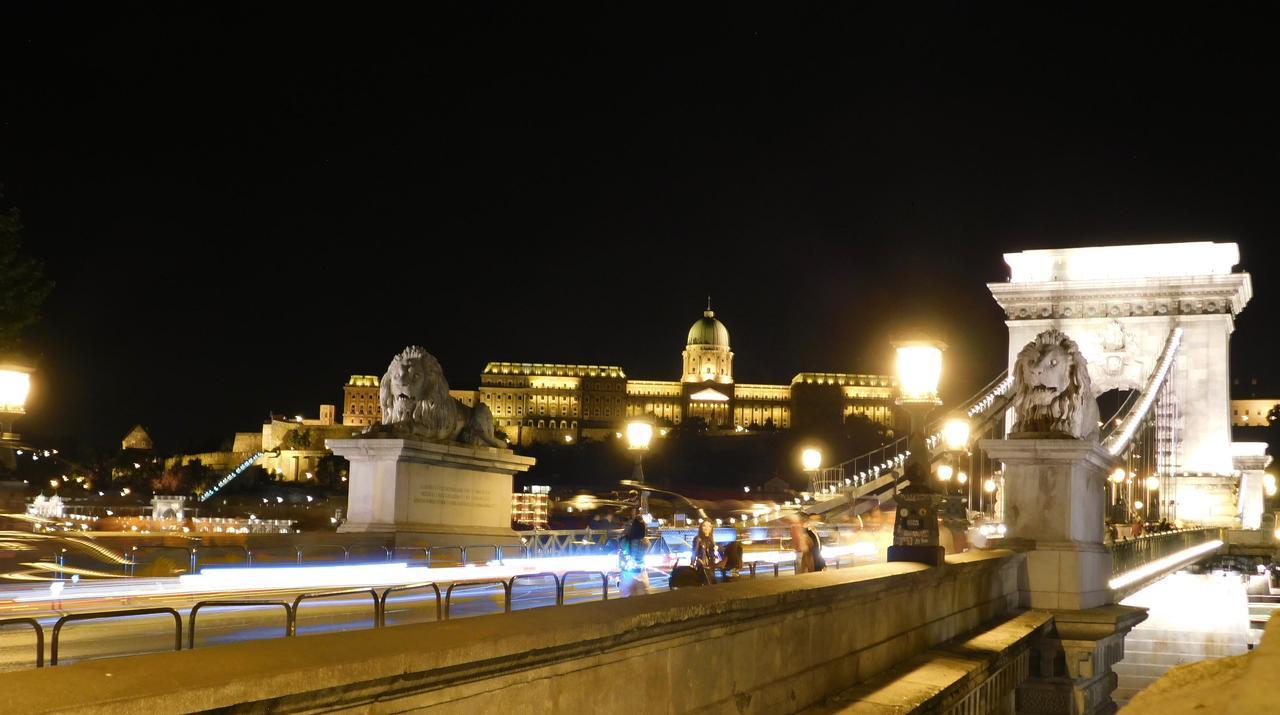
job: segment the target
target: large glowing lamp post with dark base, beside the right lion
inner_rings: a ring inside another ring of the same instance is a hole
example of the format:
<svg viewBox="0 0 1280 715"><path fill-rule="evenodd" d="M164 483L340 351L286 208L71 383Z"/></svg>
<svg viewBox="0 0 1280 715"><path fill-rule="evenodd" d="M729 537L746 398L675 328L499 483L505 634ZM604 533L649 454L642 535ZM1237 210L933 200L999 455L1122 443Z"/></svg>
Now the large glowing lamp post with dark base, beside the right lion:
<svg viewBox="0 0 1280 715"><path fill-rule="evenodd" d="M910 455L902 468L908 486L897 491L897 515L893 519L893 545L890 562L918 562L942 565L946 550L938 544L938 494L929 475L929 445L924 437L924 418L937 405L938 380L942 377L942 350L937 340L905 340L893 343L897 350L897 404L911 420L908 439Z"/></svg>

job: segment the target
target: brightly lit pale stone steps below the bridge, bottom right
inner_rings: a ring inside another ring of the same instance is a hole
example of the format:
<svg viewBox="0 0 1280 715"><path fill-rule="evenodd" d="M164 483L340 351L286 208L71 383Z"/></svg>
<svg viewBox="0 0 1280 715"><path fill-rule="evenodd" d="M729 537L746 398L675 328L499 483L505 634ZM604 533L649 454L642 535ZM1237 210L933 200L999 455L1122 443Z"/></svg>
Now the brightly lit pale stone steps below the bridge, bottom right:
<svg viewBox="0 0 1280 715"><path fill-rule="evenodd" d="M1248 597L1239 574L1179 572L1125 599L1149 609L1124 642L1114 693L1124 705L1170 668L1242 655L1251 646Z"/></svg>

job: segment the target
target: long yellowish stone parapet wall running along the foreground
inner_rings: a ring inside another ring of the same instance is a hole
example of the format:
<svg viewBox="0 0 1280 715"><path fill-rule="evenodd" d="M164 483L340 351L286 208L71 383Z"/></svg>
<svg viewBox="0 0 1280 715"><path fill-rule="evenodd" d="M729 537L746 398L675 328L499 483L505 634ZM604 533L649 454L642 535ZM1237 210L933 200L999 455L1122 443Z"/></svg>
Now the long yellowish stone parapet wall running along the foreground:
<svg viewBox="0 0 1280 715"><path fill-rule="evenodd" d="M0 675L20 712L795 712L1009 614L1023 558L948 556Z"/></svg>

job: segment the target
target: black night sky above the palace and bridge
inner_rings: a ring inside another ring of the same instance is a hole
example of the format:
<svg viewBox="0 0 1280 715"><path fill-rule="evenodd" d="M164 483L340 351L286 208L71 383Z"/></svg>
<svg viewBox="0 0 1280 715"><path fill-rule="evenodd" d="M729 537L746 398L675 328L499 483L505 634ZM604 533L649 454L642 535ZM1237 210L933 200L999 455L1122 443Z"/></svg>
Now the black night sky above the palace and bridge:
<svg viewBox="0 0 1280 715"><path fill-rule="evenodd" d="M216 444L407 343L454 386L675 379L708 293L740 381L888 370L918 326L959 400L1002 367L1001 253L1147 240L1240 244L1233 359L1275 382L1244 10L105 5L0 9L0 206L58 283L29 435Z"/></svg>

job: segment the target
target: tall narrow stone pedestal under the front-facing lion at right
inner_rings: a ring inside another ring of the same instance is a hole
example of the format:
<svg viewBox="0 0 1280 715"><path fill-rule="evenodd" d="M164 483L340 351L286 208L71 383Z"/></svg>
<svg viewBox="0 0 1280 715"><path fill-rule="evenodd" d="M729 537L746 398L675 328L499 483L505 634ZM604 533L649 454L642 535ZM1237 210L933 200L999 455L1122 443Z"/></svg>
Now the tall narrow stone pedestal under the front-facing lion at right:
<svg viewBox="0 0 1280 715"><path fill-rule="evenodd" d="M1106 476L1114 458L1074 439L982 440L1005 464L1004 546L1027 551L1024 606L1091 609L1111 602L1103 545Z"/></svg>

